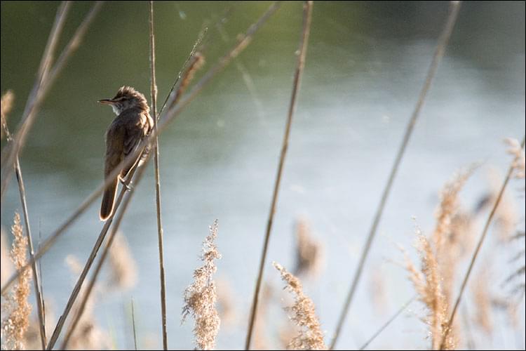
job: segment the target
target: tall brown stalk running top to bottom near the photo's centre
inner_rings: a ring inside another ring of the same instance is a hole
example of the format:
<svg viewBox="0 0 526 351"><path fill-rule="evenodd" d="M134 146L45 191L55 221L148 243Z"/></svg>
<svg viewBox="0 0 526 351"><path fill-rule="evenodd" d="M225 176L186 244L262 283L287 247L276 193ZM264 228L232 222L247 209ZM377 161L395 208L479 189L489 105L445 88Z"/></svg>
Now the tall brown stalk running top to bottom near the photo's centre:
<svg viewBox="0 0 526 351"><path fill-rule="evenodd" d="M272 201L269 211L269 219L267 221L267 229L265 230L264 244L262 248L261 259L259 261L259 271L257 274L257 282L254 291L254 297L252 298L252 310L250 311L250 322L248 324L247 337L245 340L245 350L250 349L250 340L252 338L252 330L254 329L255 317L257 314L257 302L259 300L259 290L261 289L261 283L263 280L263 270L265 266L265 260L267 260L267 249L269 247L270 233L272 230L272 223L274 221L274 213L276 213L276 204L278 202L279 185L281 183L281 175L283 174L283 165L285 164L285 156L288 149L288 140L290 135L290 127L292 126L292 116L296 110L296 100L299 92L299 83L302 79L303 69L305 66L305 57L307 44L309 42L309 33L311 30L311 18L312 18L312 1L305 1L303 5L303 28L302 37L299 41L299 55L296 63L296 72L294 77L294 83L292 84L292 95L290 97L290 104L288 109L287 124L285 126L285 134L283 135L283 142L281 144L281 154L278 164L278 170L276 172L276 180L274 182L274 191L272 193Z"/></svg>

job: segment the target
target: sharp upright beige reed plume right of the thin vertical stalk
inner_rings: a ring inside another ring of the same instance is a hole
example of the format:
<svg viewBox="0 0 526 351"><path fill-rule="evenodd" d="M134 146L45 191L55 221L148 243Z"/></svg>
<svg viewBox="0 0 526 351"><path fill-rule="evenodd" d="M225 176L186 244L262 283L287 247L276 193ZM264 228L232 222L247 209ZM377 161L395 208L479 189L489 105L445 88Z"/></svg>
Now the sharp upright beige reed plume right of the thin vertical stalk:
<svg viewBox="0 0 526 351"><path fill-rule="evenodd" d="M194 336L197 350L213 350L220 329L220 317L215 308L217 293L212 279L216 272L214 260L220 259L214 240L217 237L217 220L210 226L210 234L203 241L203 265L194 270L194 283L184 291L182 322L189 314L195 319Z"/></svg>

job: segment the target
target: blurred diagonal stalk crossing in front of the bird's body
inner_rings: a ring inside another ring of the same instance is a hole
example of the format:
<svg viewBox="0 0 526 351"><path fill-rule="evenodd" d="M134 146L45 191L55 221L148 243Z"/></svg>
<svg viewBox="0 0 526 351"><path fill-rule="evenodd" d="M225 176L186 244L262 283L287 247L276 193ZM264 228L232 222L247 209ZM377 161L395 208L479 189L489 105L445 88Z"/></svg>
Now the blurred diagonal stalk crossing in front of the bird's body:
<svg viewBox="0 0 526 351"><path fill-rule="evenodd" d="M74 223L75 220L77 220L79 216L81 216L81 214L84 213L84 211L86 211L86 209L93 203L93 201L98 199L98 197L100 196L100 194L102 194L107 185L109 185L109 183L112 182L112 179L118 176L123 168L132 164L133 161L137 159L137 157L139 156L138 152L142 150L142 147L151 143L156 135L166 130L168 124L170 124L170 122L172 122L175 119L175 117L181 114L184 108L187 107L187 105L189 105L189 103L192 100L194 100L194 98L196 98L198 93L200 93L203 90L203 88L205 88L205 86L208 83L210 83L210 81L216 76L216 74L221 72L222 69L224 69L224 67L227 67L229 62L231 62L231 60L235 58L236 55L241 53L241 51L243 51L248 46L248 44L250 44L250 42L252 41L252 37L255 35L257 30L264 24L264 22L266 22L270 18L271 15L273 15L276 12L278 8L279 4L274 2L261 16L261 18L259 18L257 22L250 26L247 32L242 36L242 39L238 41L238 43L220 59L220 62L208 70L208 72L198 81L198 83L196 83L194 88L192 88L191 91L187 93L187 95L185 95L184 99L182 99L176 105L173 105L173 107L171 107L168 111L162 114L163 118L159 116L159 126L157 127L157 133L152 132L149 134L148 138L144 138L144 140L142 140L142 144L139 145L139 147L137 147L137 151L133 154L130 154L126 159L121 161L121 163L115 167L114 171L110 173L109 176L107 176L107 179L94 192L92 192L78 208L76 208L74 213L72 213L72 215L69 216L67 220L65 220L65 222L62 223L60 227L58 227L57 230L50 234L48 239L46 239L46 241L42 243L41 249L39 249L39 251L35 253L34 260L38 260L39 258L41 258L43 254L46 253L53 246L53 244L55 244L56 240L65 232L69 225L72 225L72 223ZM116 206L118 203L119 202L116 203ZM108 222L109 220L107 221L107 225L109 226ZM106 227L106 225L104 227ZM107 228L105 230L107 231ZM29 262L27 263L27 265L29 266L29 264L31 263L32 262ZM2 286L1 293L7 291L8 287L11 286L11 284L13 284L13 282L15 282L17 278L18 273L13 274L13 276L11 276L8 279L6 284Z"/></svg>

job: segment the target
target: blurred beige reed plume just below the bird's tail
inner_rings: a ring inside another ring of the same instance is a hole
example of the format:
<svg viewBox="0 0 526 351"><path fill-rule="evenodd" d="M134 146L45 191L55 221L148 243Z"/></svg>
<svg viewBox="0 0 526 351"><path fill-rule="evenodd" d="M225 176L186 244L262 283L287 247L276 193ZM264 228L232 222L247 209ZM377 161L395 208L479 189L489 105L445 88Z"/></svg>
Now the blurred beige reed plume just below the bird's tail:
<svg viewBox="0 0 526 351"><path fill-rule="evenodd" d="M137 282L137 264L133 259L128 241L117 233L109 249L110 277L108 285L114 289L128 290Z"/></svg>

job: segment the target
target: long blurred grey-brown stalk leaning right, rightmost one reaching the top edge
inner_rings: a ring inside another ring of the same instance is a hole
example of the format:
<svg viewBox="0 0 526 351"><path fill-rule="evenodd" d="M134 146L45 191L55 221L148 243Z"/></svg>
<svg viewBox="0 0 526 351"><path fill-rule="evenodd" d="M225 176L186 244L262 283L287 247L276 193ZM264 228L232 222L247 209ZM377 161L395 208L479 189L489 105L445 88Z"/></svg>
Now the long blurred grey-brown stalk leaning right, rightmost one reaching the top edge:
<svg viewBox="0 0 526 351"><path fill-rule="evenodd" d="M356 272L353 277L351 288L349 289L349 293L347 293L344 307L338 319L338 323L337 323L336 330L335 330L335 336L332 339L332 342L330 344L330 350L333 350L335 348L335 345L339 338L339 333L340 331L342 331L342 327L344 326L345 319L347 317L347 314L349 313L349 307L351 306L351 302L353 300L353 296L356 291L356 287L358 286L358 282L360 281L360 277L363 272L363 267L365 265L365 259L369 255L372 241L373 239L375 239L377 227L380 223L380 219L382 218L382 213L384 212L384 207L386 205L387 198L389 197L389 194L391 192L391 187L393 185L394 178L396 177L396 173L398 172L398 168L402 161L403 155L405 154L405 150L411 138L412 131L414 129L414 125L417 124L417 120L420 115L420 111L422 110L422 106L424 106L424 101L426 100L427 92L429 91L429 88L431 87L431 82L433 81L433 78L435 77L440 61L442 60L444 56L447 42L450 40L451 33L453 32L454 24L455 22L457 22L457 15L459 13L459 8L460 8L460 1L451 1L450 14L447 17L447 22L445 24L444 30L442 34L440 34L440 37L438 38L438 44L436 46L435 54L433 55L433 60L431 61L431 66L429 67L429 70L427 72L426 81L424 82L422 91L420 91L417 105L414 107L414 111L405 128L405 134L404 134L402 143L400 144L400 148L398 149L398 153L396 154L396 159L391 168L389 179L387 180L387 183L384 187L384 191L382 192L382 199L380 200L377 211L375 213L375 218L372 220L372 225L369 230L369 234L367 234L367 240L365 241L365 246L363 247L363 251L361 253L360 260L358 262L358 267L356 268Z"/></svg>

